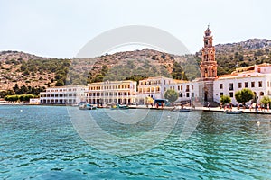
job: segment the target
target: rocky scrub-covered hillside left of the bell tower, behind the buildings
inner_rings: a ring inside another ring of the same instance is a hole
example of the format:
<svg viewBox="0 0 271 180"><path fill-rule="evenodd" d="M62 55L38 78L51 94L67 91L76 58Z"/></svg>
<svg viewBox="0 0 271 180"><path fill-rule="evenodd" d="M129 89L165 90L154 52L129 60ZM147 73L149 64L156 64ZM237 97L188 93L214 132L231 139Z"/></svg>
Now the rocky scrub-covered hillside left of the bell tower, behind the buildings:
<svg viewBox="0 0 271 180"><path fill-rule="evenodd" d="M18 51L2 51L0 90L14 91L15 85L16 89L22 86L23 89L45 89L60 85L86 85L103 80L139 80L148 76L187 79L186 73L182 72L182 64L186 63L187 59L153 49L117 52L83 59L42 58ZM194 58L191 58L191 61L193 60ZM187 69L198 67L196 61L187 64L191 66ZM198 72L191 72L192 70L187 73L190 78L198 76Z"/></svg>

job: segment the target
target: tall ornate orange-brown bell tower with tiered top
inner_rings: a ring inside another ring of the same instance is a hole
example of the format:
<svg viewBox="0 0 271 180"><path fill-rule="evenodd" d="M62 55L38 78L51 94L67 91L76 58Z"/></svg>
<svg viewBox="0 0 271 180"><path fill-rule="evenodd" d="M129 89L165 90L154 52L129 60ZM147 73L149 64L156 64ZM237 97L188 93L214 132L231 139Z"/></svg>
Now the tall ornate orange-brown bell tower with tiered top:
<svg viewBox="0 0 271 180"><path fill-rule="evenodd" d="M199 84L199 95L206 102L213 102L213 81L217 78L217 61L215 59L215 48L212 45L211 31L208 25L204 32L203 43L201 49L201 79Z"/></svg>

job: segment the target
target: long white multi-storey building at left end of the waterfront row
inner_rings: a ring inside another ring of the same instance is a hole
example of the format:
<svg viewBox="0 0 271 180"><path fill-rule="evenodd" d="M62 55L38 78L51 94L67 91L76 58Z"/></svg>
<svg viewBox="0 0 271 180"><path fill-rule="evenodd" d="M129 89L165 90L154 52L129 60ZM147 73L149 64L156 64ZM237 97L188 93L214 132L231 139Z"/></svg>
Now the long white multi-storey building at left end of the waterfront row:
<svg viewBox="0 0 271 180"><path fill-rule="evenodd" d="M83 85L50 87L40 93L40 100L42 104L78 104L86 101L86 91Z"/></svg>

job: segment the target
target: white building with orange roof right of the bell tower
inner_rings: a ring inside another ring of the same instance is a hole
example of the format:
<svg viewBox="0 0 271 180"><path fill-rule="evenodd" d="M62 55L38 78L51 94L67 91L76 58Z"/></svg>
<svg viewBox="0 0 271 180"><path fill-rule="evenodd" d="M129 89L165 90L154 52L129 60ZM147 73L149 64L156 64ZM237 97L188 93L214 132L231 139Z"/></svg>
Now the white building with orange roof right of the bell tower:
<svg viewBox="0 0 271 180"><path fill-rule="evenodd" d="M231 75L219 76L214 81L214 101L220 103L221 95L229 95L231 103L238 104L234 94L244 88L254 92L254 103L260 103L263 96L271 95L271 66L262 64L237 68Z"/></svg>

